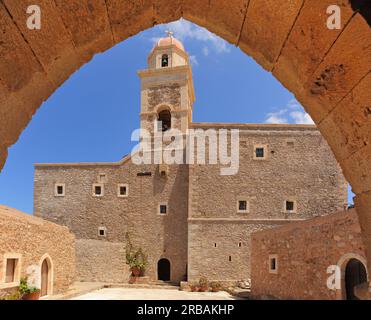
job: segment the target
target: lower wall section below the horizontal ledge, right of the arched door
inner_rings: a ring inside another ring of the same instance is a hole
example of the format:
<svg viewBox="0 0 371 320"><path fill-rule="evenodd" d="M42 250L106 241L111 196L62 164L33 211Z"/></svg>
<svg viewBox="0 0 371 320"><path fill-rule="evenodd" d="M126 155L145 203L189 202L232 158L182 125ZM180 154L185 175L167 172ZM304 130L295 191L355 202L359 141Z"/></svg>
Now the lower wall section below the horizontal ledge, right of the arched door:
<svg viewBox="0 0 371 320"><path fill-rule="evenodd" d="M197 282L206 277L234 285L250 279L250 235L276 225L235 219L192 220L188 227L192 239L188 244L188 280Z"/></svg>

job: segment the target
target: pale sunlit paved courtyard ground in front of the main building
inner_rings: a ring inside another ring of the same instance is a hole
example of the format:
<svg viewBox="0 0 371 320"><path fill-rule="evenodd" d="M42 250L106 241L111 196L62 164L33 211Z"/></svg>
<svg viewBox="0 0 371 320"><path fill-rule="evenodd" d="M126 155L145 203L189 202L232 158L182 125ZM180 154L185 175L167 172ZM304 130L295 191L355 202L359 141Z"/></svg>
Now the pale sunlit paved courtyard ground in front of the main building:
<svg viewBox="0 0 371 320"><path fill-rule="evenodd" d="M72 300L237 300L227 292L186 292L176 289L106 288Z"/></svg>

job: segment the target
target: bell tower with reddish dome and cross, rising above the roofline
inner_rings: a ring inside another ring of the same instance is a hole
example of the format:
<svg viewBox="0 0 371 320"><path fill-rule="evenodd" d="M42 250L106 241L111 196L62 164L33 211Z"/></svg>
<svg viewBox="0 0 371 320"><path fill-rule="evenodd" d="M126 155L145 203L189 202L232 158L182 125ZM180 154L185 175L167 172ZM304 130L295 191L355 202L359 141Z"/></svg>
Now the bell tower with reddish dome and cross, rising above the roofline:
<svg viewBox="0 0 371 320"><path fill-rule="evenodd" d="M192 122L195 101L192 68L183 44L167 31L148 56L141 79L141 129L185 133Z"/></svg>

